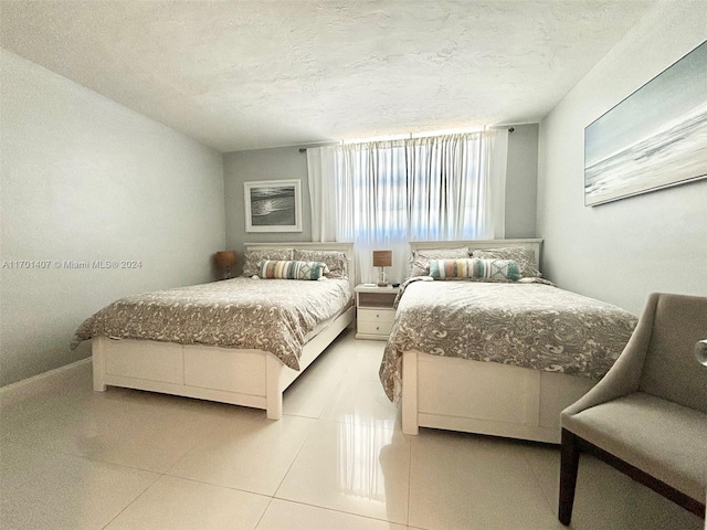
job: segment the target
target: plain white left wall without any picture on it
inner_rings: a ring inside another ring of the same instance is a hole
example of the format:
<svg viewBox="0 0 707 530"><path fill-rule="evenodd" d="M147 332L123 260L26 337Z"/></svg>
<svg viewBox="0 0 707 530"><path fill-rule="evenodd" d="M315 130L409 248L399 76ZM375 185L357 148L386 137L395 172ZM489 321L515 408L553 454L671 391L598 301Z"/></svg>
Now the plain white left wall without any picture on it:
<svg viewBox="0 0 707 530"><path fill-rule="evenodd" d="M87 357L87 343L68 350L72 335L115 298L212 279L225 232L220 152L0 52L0 384L8 384ZM63 264L93 259L141 265ZM50 266L11 268L13 261Z"/></svg>

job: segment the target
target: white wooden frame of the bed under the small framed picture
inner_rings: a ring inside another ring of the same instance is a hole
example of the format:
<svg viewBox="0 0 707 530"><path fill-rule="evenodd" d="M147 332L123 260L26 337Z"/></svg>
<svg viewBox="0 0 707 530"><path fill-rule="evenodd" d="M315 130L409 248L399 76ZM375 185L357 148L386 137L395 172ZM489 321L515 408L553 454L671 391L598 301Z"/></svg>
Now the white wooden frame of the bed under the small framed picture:
<svg viewBox="0 0 707 530"><path fill-rule="evenodd" d="M356 283L352 243L252 243L246 250L307 248L346 253L351 293ZM234 405L265 409L279 420L283 392L354 320L355 308L327 325L302 351L300 370L284 365L263 350L178 344L154 340L92 340L93 388L107 385L198 398Z"/></svg>

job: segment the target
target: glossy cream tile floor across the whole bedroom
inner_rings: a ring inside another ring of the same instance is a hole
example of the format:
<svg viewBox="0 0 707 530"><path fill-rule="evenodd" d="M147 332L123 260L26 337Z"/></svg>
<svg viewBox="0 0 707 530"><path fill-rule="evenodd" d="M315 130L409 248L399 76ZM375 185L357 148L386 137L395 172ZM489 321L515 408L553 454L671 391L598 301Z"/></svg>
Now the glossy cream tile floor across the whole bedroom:
<svg viewBox="0 0 707 530"><path fill-rule="evenodd" d="M285 393L285 416L124 389L91 365L4 404L0 528L560 529L557 447L421 430L378 382L382 342L347 330ZM582 458L574 529L703 529Z"/></svg>

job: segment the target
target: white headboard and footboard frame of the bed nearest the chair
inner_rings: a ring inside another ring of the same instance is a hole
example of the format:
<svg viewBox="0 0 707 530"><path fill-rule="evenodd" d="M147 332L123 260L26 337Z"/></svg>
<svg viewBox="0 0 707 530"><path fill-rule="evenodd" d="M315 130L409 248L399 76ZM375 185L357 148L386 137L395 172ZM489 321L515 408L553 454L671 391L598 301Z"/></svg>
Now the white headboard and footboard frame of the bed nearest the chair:
<svg viewBox="0 0 707 530"><path fill-rule="evenodd" d="M411 251L524 246L540 263L542 240L415 242ZM559 444L560 412L595 384L587 378L496 362L403 352L402 431L444 428Z"/></svg>

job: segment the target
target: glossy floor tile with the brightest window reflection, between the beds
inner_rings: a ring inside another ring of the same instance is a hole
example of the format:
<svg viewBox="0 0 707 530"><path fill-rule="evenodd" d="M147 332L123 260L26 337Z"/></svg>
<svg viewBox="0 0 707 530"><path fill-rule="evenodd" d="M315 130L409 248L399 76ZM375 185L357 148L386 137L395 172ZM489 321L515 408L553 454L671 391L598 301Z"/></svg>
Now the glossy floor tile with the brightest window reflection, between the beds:
<svg viewBox="0 0 707 530"><path fill-rule="evenodd" d="M319 420L275 497L405 524L410 442L384 425Z"/></svg>

